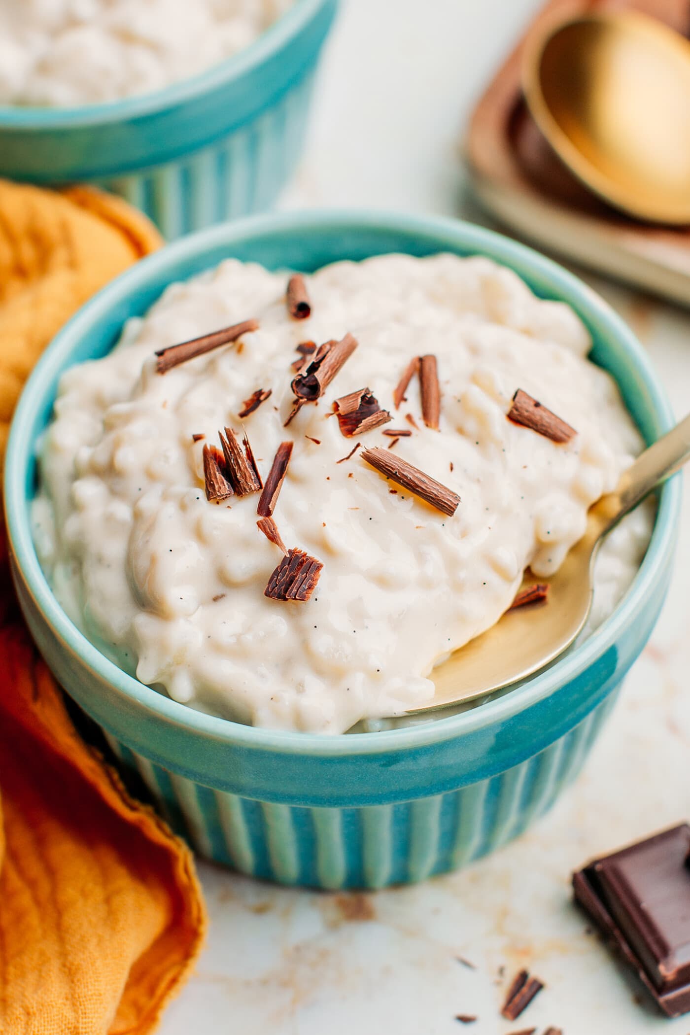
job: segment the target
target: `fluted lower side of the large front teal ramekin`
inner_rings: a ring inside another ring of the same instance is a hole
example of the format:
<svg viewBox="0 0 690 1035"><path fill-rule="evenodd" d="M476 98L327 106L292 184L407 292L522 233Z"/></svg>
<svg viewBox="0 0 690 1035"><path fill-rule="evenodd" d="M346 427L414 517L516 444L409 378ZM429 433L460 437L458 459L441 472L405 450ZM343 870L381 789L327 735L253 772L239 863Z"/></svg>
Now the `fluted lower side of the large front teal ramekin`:
<svg viewBox="0 0 690 1035"><path fill-rule="evenodd" d="M254 801L196 783L106 734L156 807L200 855L261 880L334 890L416 883L493 852L542 816L580 771L619 687L538 755L457 791L360 808Z"/></svg>

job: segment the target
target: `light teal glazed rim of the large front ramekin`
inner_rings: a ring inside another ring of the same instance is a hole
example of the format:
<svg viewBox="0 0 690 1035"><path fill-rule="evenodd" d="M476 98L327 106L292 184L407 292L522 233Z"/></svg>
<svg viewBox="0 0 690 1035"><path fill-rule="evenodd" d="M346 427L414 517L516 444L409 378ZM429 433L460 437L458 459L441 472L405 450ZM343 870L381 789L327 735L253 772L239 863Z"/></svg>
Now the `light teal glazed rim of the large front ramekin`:
<svg viewBox="0 0 690 1035"><path fill-rule="evenodd" d="M59 605L48 584L35 553L26 500L26 468L33 453L30 432L36 413L43 408L48 390L64 359L90 328L118 302L137 294L150 278L161 274L176 278L180 260L203 256L214 247L228 247L235 241L261 239L275 233L299 234L329 228L368 233L419 234L438 239L439 252L459 247L463 252L488 253L496 261L517 267L548 286L554 297L573 303L606 341L617 339L634 359L637 374L644 380L650 397L648 413L664 431L672 423L672 413L656 374L632 331L613 309L578 277L558 263L502 234L472 224L443 217L401 215L377 211L309 211L252 216L182 238L148 257L121 274L89 301L57 335L43 353L22 393L12 420L7 444L4 497L7 532L20 578L31 594L37 611L67 650L97 677L109 683L128 702L136 702L154 719L173 723L202 739L211 738L229 745L302 756L357 756L419 748L452 740L478 729L502 722L562 688L601 657L622 634L643 607L657 569L670 556L679 523L680 479L668 482L661 493L657 521L646 557L632 586L612 615L582 644L557 661L545 673L520 687L478 708L427 723L378 733L325 735L266 730L217 718L179 704L140 683L110 661L72 624ZM177 274L179 275L179 274ZM169 282L169 283L170 283Z"/></svg>

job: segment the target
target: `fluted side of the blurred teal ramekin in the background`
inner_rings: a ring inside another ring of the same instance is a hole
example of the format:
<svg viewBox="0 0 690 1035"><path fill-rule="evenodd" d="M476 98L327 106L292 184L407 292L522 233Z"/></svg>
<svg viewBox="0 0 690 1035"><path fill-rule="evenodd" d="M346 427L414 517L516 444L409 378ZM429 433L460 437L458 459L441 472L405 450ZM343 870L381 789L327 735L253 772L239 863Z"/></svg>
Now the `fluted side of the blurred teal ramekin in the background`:
<svg viewBox="0 0 690 1035"><path fill-rule="evenodd" d="M304 145L310 69L252 122L152 169L96 180L145 212L168 240L270 209Z"/></svg>

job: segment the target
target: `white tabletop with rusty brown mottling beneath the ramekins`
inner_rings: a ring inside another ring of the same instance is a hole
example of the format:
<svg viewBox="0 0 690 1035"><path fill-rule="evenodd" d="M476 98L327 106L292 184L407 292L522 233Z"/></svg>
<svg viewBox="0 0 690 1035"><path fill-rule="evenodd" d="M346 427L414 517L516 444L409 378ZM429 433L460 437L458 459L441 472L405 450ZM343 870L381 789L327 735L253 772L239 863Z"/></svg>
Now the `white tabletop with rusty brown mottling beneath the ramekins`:
<svg viewBox="0 0 690 1035"><path fill-rule="evenodd" d="M462 197L458 136L536 6L344 0L311 146L286 204L478 218ZM690 317L587 278L632 324L684 414ZM590 856L690 818L689 572L686 508L662 618L582 776L491 859L368 896L271 888L203 865L209 945L161 1035L507 1035L532 1026L541 1035L549 1025L564 1035L688 1035L690 1017L669 1022L633 1001L636 989L584 933L568 881ZM477 969L456 963L458 953ZM523 964L547 987L511 1024L499 1016L505 980L493 982L499 968L510 979ZM456 1013L479 1021L466 1027Z"/></svg>

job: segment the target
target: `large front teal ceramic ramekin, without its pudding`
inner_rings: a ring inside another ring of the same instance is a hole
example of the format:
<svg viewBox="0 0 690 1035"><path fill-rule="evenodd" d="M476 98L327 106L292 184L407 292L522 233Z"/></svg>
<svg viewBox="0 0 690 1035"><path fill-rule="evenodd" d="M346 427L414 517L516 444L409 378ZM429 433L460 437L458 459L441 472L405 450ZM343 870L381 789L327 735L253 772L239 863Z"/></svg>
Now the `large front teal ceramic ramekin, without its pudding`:
<svg viewBox="0 0 690 1035"><path fill-rule="evenodd" d="M58 335L20 401L5 509L20 602L58 681L138 770L173 827L204 856L245 874L323 888L419 881L519 834L579 771L659 614L679 525L678 479L660 493L652 541L613 615L551 669L479 708L408 729L336 737L252 729L157 693L107 660L60 609L29 524L35 449L60 374L99 357L123 321L173 280L234 256L311 271L388 252L484 255L544 298L562 299L594 338L651 441L671 414L625 324L560 266L498 234L450 219L366 212L290 213L217 227L124 273Z"/></svg>

